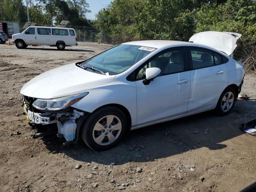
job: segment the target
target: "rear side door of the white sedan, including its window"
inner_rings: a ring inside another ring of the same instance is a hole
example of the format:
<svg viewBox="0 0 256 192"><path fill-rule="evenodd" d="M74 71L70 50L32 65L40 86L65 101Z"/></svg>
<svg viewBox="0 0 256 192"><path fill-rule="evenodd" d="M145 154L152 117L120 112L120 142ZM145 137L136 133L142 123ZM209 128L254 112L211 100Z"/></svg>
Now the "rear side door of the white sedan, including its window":
<svg viewBox="0 0 256 192"><path fill-rule="evenodd" d="M220 54L212 50L190 47L191 88L188 112L215 108L226 88L227 72Z"/></svg>

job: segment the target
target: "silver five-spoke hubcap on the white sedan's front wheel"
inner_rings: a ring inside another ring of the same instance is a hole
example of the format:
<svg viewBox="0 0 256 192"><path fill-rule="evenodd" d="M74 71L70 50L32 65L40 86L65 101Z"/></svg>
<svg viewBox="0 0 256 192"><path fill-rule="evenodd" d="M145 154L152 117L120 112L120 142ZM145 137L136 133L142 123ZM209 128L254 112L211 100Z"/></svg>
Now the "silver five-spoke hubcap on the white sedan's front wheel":
<svg viewBox="0 0 256 192"><path fill-rule="evenodd" d="M113 143L122 131L122 123L117 116L107 115L98 120L94 125L92 136L99 145L109 145Z"/></svg>

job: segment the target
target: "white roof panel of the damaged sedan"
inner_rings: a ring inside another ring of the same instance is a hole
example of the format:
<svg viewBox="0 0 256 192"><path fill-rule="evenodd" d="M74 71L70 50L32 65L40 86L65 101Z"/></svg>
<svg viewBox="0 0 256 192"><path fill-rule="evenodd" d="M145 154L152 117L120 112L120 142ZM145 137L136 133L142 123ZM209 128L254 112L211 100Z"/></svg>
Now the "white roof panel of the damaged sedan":
<svg viewBox="0 0 256 192"><path fill-rule="evenodd" d="M162 48L165 46L194 46L194 43L183 41L170 41L170 40L144 40L144 41L132 41L123 43L125 45L138 45L152 48Z"/></svg>

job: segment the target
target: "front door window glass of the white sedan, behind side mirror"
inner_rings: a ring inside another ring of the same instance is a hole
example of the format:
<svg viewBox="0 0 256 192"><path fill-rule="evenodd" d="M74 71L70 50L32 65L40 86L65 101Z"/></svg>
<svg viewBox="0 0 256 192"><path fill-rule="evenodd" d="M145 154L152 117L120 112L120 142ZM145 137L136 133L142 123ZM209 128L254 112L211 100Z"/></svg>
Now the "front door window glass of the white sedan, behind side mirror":
<svg viewBox="0 0 256 192"><path fill-rule="evenodd" d="M185 60L183 48L169 49L153 57L139 70L136 79L144 79L146 77L146 69L151 67L160 68L160 75L184 71Z"/></svg>

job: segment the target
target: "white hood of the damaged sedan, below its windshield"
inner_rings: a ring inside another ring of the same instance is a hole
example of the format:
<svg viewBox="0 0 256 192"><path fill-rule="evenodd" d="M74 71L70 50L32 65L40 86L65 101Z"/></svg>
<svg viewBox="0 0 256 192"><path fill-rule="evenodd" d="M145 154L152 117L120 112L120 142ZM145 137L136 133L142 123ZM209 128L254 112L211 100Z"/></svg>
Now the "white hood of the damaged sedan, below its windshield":
<svg viewBox="0 0 256 192"><path fill-rule="evenodd" d="M114 75L102 75L68 64L44 72L27 82L20 93L41 99L52 99L85 92L88 88L113 81Z"/></svg>

